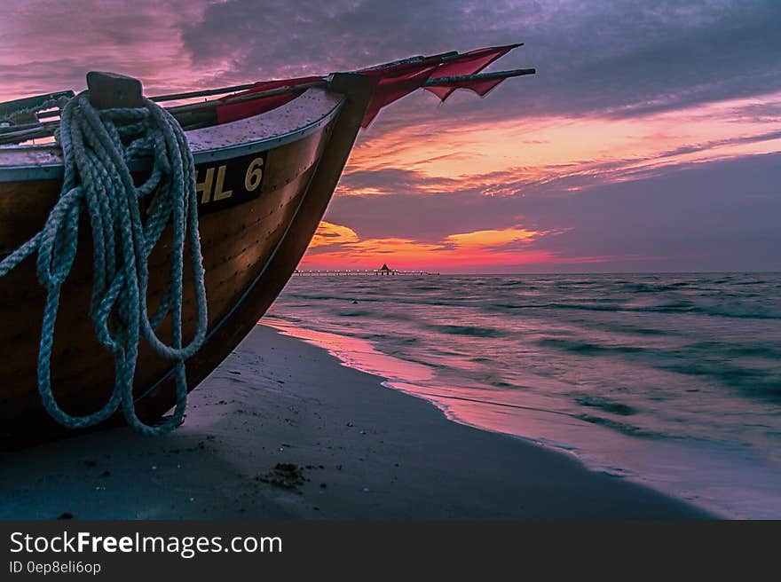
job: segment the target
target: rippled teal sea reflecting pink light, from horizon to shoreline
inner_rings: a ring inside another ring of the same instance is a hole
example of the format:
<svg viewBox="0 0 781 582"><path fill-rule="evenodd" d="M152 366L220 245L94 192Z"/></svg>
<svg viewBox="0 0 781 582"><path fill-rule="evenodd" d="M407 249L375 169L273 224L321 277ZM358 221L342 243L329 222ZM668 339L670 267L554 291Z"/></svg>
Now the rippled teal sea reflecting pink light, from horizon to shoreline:
<svg viewBox="0 0 781 582"><path fill-rule="evenodd" d="M452 421L781 518L781 273L296 276L261 323Z"/></svg>

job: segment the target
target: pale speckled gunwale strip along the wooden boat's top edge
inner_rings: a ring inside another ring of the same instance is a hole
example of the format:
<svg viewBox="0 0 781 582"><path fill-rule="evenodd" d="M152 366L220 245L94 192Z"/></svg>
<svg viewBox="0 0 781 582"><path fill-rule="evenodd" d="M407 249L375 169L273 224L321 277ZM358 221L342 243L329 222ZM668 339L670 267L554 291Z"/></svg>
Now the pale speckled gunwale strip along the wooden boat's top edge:
<svg viewBox="0 0 781 582"><path fill-rule="evenodd" d="M336 114L339 113L344 105L345 97L339 95L334 104L327 104L327 95L334 95L327 89L312 88L306 90L300 97L293 99L283 106L272 109L272 111L265 112L264 114L252 115L248 118L237 120L235 122L222 123L219 125L211 126L208 128L202 128L199 130L191 130L187 132L188 139L193 138L195 142L194 146L191 144L193 150L193 159L195 164L206 163L210 161L225 161L231 160L241 155L248 153L264 152L272 150L274 148L285 146L287 144L304 139L316 131L320 130L323 126L331 122ZM273 122L275 118L284 120L286 117L294 113L296 108L300 108L302 99L306 101L312 99L313 105L330 105L325 114L322 114L318 119L300 125L292 130L282 131L273 135L248 139L230 146L218 146L198 149L198 141L204 135L208 133L216 133L217 131L223 132L225 130L235 130L241 125L248 125L252 122ZM4 152L20 152L25 153L40 153L44 155L51 155L60 158L61 152L58 146L52 146L46 144L42 146L22 146L22 147L9 147L0 148L0 184L9 182L32 182L38 180L51 180L59 179L63 176L64 168L61 159L50 163L27 163L20 165L2 165L2 154ZM130 163L130 169L133 171L142 171L145 169L145 163L143 160L138 160Z"/></svg>

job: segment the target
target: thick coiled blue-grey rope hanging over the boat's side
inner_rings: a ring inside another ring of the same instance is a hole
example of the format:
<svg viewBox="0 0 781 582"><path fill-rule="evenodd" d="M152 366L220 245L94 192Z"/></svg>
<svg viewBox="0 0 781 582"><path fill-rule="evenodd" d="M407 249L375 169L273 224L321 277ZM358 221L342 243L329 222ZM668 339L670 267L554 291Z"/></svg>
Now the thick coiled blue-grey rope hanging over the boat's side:
<svg viewBox="0 0 781 582"><path fill-rule="evenodd" d="M122 406L125 419L134 429L146 435L162 434L184 417L185 359L201 348L207 326L193 154L178 122L149 99L144 98L140 107L99 110L91 105L89 91L78 94L64 107L57 138L65 166L59 200L41 232L0 262L3 277L37 252L38 280L47 290L38 351L38 390L43 406L60 424L75 429L105 421ZM139 158L151 158L152 171L137 186L128 161ZM142 219L139 201L145 198L149 206L146 219ZM99 342L114 353L115 380L111 397L98 412L73 416L60 408L51 393L51 350L60 290L75 260L79 216L84 209L93 243L90 314ZM160 305L150 316L146 296L148 259L168 224L172 232L169 279ZM187 240L197 324L192 341L183 345ZM155 333L167 316L170 343ZM176 409L167 421L156 426L138 419L133 400L142 337L157 353L176 362Z"/></svg>

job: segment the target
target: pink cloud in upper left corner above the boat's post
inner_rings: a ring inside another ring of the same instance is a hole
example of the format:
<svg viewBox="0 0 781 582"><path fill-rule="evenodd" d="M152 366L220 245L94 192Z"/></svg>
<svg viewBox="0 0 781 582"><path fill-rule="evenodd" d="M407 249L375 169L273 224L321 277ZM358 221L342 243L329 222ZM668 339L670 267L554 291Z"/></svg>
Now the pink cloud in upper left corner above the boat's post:
<svg viewBox="0 0 781 582"><path fill-rule="evenodd" d="M140 78L153 93L197 84L181 41L203 3L189 0L6 0L0 19L0 94L81 90L90 70Z"/></svg>

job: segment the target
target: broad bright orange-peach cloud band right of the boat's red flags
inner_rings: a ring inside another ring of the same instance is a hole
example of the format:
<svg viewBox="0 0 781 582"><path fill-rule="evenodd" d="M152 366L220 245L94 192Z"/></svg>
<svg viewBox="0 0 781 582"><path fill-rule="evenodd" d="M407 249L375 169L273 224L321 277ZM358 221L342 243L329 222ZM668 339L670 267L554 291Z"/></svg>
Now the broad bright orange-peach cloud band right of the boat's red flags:
<svg viewBox="0 0 781 582"><path fill-rule="evenodd" d="M419 193L458 188L512 194L519 185L575 175L620 182L673 164L778 152L781 122L752 114L756 106L781 106L781 92L632 117L547 116L471 124L438 118L362 140L348 172L413 171ZM386 192L365 185L339 193Z"/></svg>

